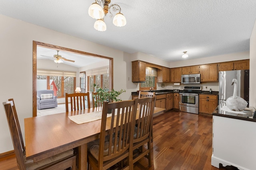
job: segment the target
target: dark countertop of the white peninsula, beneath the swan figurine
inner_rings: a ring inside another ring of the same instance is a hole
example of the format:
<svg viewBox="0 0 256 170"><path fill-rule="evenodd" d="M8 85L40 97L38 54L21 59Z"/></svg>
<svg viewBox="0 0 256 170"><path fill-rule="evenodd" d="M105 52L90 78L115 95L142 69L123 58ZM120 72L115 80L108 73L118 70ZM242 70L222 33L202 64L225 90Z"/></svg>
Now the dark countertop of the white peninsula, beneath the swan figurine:
<svg viewBox="0 0 256 170"><path fill-rule="evenodd" d="M225 106L225 104L224 104L224 106ZM224 107L224 106L222 106L222 104L219 104L219 106L216 107L216 109L214 110L212 115L256 122L256 118L252 117L253 114L245 114L243 112L241 112L241 113L232 113L232 112L224 111L224 110L222 110L222 107ZM253 109L253 111L255 111L255 109L253 107L251 109Z"/></svg>

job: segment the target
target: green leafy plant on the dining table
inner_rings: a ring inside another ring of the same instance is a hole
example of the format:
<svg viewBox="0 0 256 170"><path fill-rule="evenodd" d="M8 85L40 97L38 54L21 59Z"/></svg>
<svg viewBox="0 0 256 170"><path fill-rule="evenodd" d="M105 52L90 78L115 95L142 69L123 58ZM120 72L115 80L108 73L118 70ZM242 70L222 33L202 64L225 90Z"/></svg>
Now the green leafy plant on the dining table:
<svg viewBox="0 0 256 170"><path fill-rule="evenodd" d="M98 90L96 90L96 92L98 92L98 100L96 100L96 103L98 102L103 102L103 101L108 101L108 102L118 102L118 101L122 101L121 99L117 98L121 93L126 92L126 90L119 90L116 91L114 89L112 89L111 91L106 91L106 88L101 88L99 87L99 85L96 85L95 83L93 84L94 88L97 87ZM97 105L95 103L95 105Z"/></svg>

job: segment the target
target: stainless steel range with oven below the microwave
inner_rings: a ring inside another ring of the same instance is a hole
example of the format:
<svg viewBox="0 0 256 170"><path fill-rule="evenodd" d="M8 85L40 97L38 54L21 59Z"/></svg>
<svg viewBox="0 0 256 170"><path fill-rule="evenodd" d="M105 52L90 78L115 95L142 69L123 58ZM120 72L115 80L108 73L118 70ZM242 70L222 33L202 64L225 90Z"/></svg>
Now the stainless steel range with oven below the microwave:
<svg viewBox="0 0 256 170"><path fill-rule="evenodd" d="M184 86L180 93L180 111L198 114L198 94L201 92L201 86Z"/></svg>

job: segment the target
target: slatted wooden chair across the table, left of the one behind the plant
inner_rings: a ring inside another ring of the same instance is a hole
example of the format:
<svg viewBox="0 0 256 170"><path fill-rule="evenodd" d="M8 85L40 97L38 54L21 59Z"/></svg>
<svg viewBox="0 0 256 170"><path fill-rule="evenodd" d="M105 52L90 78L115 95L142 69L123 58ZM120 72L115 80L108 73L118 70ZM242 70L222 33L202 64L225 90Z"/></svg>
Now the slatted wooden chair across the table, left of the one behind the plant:
<svg viewBox="0 0 256 170"><path fill-rule="evenodd" d="M90 109L90 94L87 93L72 93L65 94L66 112L68 112L68 100L70 100L71 111L85 109L85 102L87 100L88 109Z"/></svg>

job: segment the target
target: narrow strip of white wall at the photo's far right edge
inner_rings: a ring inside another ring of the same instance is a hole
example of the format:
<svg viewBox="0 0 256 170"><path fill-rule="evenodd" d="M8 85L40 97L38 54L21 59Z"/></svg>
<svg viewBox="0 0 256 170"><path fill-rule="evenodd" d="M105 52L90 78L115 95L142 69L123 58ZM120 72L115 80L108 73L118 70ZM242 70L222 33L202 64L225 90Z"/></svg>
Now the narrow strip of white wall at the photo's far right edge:
<svg viewBox="0 0 256 170"><path fill-rule="evenodd" d="M250 37L250 92L249 105L256 108L256 21Z"/></svg>

